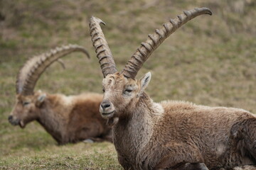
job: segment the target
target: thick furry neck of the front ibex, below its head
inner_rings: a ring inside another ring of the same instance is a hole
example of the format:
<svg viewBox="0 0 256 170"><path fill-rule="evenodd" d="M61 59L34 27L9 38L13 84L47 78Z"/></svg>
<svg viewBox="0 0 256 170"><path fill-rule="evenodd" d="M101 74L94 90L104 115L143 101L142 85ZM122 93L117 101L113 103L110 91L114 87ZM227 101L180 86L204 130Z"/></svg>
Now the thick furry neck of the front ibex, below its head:
<svg viewBox="0 0 256 170"><path fill-rule="evenodd" d="M151 140L154 124L164 109L143 94L136 108L130 110L127 119L119 120L113 127L114 145L119 155L136 164L140 150Z"/></svg>

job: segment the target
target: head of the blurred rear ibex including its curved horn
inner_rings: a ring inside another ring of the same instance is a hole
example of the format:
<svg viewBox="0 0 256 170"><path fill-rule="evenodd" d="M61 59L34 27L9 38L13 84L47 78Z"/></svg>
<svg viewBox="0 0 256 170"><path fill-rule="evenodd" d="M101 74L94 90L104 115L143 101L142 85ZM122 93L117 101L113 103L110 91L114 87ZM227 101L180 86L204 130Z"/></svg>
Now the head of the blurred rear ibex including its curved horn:
<svg viewBox="0 0 256 170"><path fill-rule="evenodd" d="M32 57L21 67L16 80L16 104L8 118L12 125L24 128L27 123L38 119L39 109L46 99L46 94L33 91L36 82L50 64L75 51L84 52L89 57L84 47L65 45Z"/></svg>

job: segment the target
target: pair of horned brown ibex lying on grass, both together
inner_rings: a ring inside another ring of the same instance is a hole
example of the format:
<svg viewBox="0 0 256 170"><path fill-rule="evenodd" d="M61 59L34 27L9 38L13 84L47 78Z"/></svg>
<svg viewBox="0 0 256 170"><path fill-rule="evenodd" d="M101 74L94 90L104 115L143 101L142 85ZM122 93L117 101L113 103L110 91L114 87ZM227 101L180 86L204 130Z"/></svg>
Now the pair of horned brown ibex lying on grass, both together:
<svg viewBox="0 0 256 170"><path fill-rule="evenodd" d="M78 45L61 47L33 57L22 67L10 123L23 128L37 120L60 144L113 140L118 161L126 170L256 169L255 115L239 108L198 106L185 101L155 103L145 92L150 72L135 79L161 42L203 14L212 13L208 8L195 8L164 23L149 34L121 72L117 72L100 28L100 23L105 23L92 16L90 35L104 76L104 95L67 97L33 92L38 77L52 62L73 51L87 54Z"/></svg>

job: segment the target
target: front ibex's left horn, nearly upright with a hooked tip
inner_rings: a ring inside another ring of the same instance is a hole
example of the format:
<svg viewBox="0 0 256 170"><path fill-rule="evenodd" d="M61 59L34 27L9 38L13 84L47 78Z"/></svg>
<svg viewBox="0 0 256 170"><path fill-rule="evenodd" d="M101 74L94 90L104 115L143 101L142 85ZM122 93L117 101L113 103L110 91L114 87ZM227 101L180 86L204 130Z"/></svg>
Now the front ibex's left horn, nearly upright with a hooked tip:
<svg viewBox="0 0 256 170"><path fill-rule="evenodd" d="M102 74L104 77L106 77L107 74L114 74L117 72L117 68L115 66L110 47L107 45L107 40L105 39L102 29L100 28L100 23L105 25L100 18L92 16L89 21L89 27L92 44L95 47L95 52L97 54L97 58L99 59Z"/></svg>

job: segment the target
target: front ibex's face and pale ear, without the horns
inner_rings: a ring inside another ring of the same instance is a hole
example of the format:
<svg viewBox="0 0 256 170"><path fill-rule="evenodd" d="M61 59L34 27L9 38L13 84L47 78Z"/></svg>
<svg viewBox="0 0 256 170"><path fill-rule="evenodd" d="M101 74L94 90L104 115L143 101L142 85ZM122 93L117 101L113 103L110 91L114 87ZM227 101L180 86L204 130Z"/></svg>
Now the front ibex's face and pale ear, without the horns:
<svg viewBox="0 0 256 170"><path fill-rule="evenodd" d="M150 79L150 72L140 80L124 77L123 74L118 72L108 74L102 81L103 91L105 92L100 105L102 117L122 117L125 116L122 114L132 113ZM127 111L127 109L130 111Z"/></svg>

